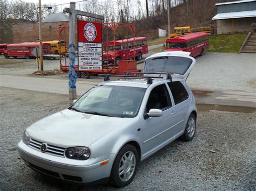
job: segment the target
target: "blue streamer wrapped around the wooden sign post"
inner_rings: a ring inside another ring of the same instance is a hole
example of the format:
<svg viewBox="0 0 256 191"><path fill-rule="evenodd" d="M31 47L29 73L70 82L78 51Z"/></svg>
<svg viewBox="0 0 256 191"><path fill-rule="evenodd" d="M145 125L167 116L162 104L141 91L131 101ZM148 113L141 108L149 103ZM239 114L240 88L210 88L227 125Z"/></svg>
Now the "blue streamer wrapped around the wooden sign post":
<svg viewBox="0 0 256 191"><path fill-rule="evenodd" d="M77 82L77 74L72 75L73 70L76 69L75 61L76 61L76 52L72 51L70 48L73 47L75 49L75 45L73 43L69 44L69 59L71 63L69 63L69 88L76 88Z"/></svg>

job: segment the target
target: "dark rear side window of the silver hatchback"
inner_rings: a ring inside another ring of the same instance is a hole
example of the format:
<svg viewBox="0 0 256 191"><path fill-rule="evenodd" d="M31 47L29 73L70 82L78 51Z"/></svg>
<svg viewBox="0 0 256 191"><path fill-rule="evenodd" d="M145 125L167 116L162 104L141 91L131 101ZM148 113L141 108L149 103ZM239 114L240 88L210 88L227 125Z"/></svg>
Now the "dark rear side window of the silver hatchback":
<svg viewBox="0 0 256 191"><path fill-rule="evenodd" d="M171 89L173 100L176 105L187 100L188 93L181 82L168 82L167 84Z"/></svg>

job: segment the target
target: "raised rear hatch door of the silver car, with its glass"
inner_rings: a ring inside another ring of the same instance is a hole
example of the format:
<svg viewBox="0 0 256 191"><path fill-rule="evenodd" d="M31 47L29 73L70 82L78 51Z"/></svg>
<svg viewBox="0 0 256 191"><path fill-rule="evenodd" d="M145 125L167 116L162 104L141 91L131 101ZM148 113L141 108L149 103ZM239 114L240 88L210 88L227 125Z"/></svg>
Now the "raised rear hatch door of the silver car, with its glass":
<svg viewBox="0 0 256 191"><path fill-rule="evenodd" d="M146 59L144 73L173 73L172 77L186 80L196 64L196 60L189 56L190 53L188 52L182 52L182 54L154 54ZM156 76L159 76L159 74Z"/></svg>

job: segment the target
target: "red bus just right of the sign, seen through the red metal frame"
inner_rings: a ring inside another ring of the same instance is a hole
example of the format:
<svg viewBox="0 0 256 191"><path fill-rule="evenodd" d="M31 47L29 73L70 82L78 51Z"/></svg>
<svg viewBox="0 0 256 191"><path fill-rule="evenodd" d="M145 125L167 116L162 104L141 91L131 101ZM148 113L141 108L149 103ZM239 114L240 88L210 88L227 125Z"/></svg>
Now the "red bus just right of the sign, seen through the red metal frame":
<svg viewBox="0 0 256 191"><path fill-rule="evenodd" d="M133 46L133 41L135 41L135 46ZM134 56L135 47L135 58L136 60L142 60L142 55L148 53L147 49L147 38L146 37L136 37L133 38L116 40L115 47L114 41L104 43L103 52L103 64L114 63L116 60L116 66L120 60L129 60ZM114 57L116 59L114 59Z"/></svg>

